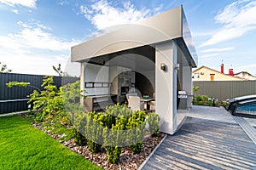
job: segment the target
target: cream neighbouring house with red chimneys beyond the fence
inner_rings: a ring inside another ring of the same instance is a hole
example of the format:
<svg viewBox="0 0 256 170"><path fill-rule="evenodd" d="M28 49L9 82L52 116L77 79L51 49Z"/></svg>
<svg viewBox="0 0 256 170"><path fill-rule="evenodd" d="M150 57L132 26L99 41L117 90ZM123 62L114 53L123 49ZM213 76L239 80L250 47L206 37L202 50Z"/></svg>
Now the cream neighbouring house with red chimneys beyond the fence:
<svg viewBox="0 0 256 170"><path fill-rule="evenodd" d="M230 69L229 74L224 74L224 65L221 71L213 70L207 66L201 66L192 73L192 81L245 81L241 77L234 77L233 70Z"/></svg>

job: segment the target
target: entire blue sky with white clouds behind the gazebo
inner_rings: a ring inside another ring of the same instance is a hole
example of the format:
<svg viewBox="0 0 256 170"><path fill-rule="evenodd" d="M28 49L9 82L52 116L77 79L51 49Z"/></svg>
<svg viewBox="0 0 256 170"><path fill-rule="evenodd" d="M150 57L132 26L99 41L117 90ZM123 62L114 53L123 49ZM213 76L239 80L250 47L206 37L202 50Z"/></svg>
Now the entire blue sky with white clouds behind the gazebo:
<svg viewBox="0 0 256 170"><path fill-rule="evenodd" d="M56 75L52 65L65 70L70 48L100 30L181 4L198 67L220 71L223 61L225 73L256 75L256 1L250 0L0 0L0 62L15 73Z"/></svg>

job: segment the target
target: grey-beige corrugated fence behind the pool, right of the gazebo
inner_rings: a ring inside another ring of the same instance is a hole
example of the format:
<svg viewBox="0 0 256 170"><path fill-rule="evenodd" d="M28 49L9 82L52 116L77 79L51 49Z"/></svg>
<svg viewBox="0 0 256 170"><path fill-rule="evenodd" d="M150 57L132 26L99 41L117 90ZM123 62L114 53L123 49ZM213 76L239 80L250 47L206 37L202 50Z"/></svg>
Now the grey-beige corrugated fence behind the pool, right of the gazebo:
<svg viewBox="0 0 256 170"><path fill-rule="evenodd" d="M218 100L256 94L256 81L193 82L193 86L199 87L196 94L207 95Z"/></svg>

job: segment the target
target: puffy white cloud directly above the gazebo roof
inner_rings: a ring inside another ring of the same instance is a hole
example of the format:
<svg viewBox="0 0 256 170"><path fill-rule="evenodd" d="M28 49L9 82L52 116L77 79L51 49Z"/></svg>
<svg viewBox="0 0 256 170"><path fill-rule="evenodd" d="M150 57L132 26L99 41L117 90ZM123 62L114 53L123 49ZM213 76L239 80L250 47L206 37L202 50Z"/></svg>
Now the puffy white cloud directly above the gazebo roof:
<svg viewBox="0 0 256 170"><path fill-rule="evenodd" d="M157 13L162 8L157 7L153 10ZM98 30L102 30L109 26L131 24L137 20L148 18L151 15L149 8L137 9L130 1L123 3L123 7L114 7L107 0L100 0L90 6L80 6L80 11L87 20Z"/></svg>

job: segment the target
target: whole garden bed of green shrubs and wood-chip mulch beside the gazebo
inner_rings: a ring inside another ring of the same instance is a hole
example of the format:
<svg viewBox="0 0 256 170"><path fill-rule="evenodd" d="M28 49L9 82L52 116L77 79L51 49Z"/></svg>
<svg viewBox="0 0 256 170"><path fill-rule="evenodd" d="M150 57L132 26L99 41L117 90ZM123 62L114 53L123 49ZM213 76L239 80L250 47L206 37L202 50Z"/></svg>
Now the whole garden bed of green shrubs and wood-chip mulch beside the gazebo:
<svg viewBox="0 0 256 170"><path fill-rule="evenodd" d="M32 112L26 118L100 167L137 169L164 137L157 133L160 116L155 112L131 111L119 104L107 106L105 112L85 112L79 103L79 81L60 89L52 82L53 77L44 77L44 90L29 95ZM145 131L146 124L149 132Z"/></svg>

